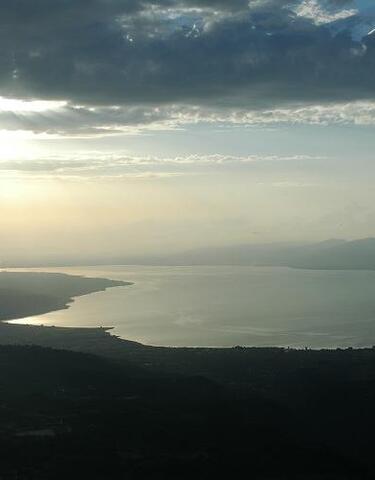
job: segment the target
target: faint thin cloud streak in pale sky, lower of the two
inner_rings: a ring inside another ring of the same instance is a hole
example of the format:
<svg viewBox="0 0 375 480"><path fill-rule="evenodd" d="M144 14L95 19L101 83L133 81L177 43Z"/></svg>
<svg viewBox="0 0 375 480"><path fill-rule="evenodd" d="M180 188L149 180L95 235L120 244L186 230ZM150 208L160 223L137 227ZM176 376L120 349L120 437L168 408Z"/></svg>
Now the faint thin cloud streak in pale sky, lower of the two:
<svg viewBox="0 0 375 480"><path fill-rule="evenodd" d="M259 163L304 162L324 160L308 155L187 155L174 158L152 156L103 155L99 152L63 155L51 158L29 158L0 161L1 175L27 178L169 178L181 175L206 174L222 169L233 170Z"/></svg>

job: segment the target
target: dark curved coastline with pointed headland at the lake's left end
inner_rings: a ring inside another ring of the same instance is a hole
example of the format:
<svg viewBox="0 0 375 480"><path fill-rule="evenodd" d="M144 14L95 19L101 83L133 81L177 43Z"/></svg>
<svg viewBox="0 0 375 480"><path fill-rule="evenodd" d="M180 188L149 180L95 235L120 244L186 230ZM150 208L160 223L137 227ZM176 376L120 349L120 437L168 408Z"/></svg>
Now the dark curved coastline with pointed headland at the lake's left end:
<svg viewBox="0 0 375 480"><path fill-rule="evenodd" d="M0 344L37 345L90 353L137 345L111 334L113 327L54 327L12 323L70 307L75 298L132 282L44 272L0 272ZM139 344L140 345L140 344Z"/></svg>

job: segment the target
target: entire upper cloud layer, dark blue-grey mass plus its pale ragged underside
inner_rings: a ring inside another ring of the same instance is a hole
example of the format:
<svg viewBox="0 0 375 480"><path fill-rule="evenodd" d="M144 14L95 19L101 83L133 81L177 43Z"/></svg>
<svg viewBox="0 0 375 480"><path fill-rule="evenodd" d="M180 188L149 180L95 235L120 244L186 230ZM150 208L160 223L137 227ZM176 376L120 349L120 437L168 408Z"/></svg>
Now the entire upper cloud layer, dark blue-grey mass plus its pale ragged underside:
<svg viewBox="0 0 375 480"><path fill-rule="evenodd" d="M363 22L345 0L1 2L0 94L66 103L0 122L85 135L198 117L335 121L340 109L352 121L375 93L375 35L351 30Z"/></svg>

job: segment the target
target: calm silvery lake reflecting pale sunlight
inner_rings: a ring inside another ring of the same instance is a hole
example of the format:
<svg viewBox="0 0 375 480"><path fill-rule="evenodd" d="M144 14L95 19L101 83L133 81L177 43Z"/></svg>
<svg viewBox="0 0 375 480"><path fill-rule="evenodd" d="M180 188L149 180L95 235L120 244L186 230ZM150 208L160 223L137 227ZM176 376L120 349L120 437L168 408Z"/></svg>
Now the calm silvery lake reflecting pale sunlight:
<svg viewBox="0 0 375 480"><path fill-rule="evenodd" d="M78 297L67 310L14 323L113 326L123 338L165 346L375 344L375 272L237 266L30 270L134 285Z"/></svg>

